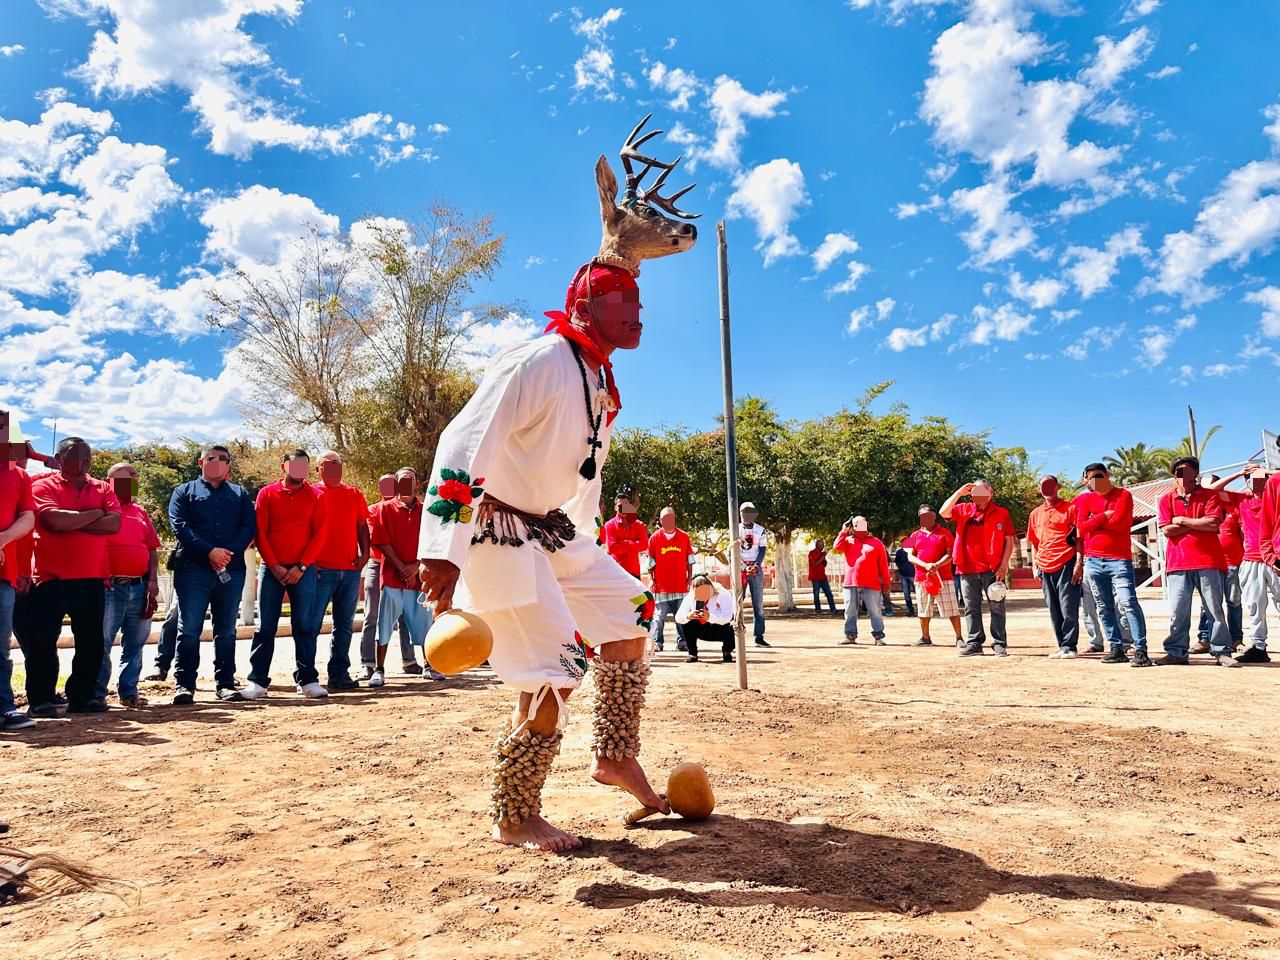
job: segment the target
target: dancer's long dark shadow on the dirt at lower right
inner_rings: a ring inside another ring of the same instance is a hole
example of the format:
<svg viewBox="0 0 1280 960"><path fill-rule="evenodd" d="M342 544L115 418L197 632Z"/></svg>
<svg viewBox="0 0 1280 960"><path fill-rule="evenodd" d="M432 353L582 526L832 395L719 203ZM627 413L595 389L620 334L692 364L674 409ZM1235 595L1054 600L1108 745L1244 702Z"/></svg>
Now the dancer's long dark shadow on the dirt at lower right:
<svg viewBox="0 0 1280 960"><path fill-rule="evenodd" d="M719 908L772 904L841 913L957 913L975 909L992 893L1039 893L1059 900L1176 904L1265 927L1274 923L1251 908L1280 910L1280 896L1260 893L1267 887L1280 891L1280 882L1231 887L1208 870L1144 887L1069 873L1010 873L952 846L823 823L713 817L704 823L659 820L636 829L694 836L658 847L637 846L630 840L595 840L580 856L604 856L625 870L662 877L673 886L593 883L577 891L577 900L602 909L677 900ZM685 888L686 883L732 887L700 891Z"/></svg>

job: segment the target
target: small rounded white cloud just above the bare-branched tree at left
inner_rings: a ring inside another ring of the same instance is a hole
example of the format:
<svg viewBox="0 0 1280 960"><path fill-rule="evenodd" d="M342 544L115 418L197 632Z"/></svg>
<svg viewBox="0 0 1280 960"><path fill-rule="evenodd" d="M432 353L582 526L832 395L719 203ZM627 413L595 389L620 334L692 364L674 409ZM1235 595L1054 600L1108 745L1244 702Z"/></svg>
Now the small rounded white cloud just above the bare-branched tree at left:
<svg viewBox="0 0 1280 960"><path fill-rule="evenodd" d="M229 264L274 264L308 228L329 234L339 225L310 197L261 184L214 201L200 221L209 228L206 255Z"/></svg>

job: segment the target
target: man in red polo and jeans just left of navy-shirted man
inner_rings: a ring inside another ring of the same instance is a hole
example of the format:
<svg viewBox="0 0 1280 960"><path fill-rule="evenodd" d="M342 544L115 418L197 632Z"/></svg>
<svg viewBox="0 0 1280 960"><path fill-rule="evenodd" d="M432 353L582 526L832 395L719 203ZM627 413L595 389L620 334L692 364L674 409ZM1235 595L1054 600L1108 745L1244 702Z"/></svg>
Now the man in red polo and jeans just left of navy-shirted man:
<svg viewBox="0 0 1280 960"><path fill-rule="evenodd" d="M151 617L160 599L156 550L160 538L151 517L133 497L138 490L138 471L131 463L116 463L106 480L120 502L120 529L106 540L111 579L106 588L106 616L102 621L102 668L97 675L96 696L106 700L111 682L111 646L120 635L120 678L116 694L125 707L145 707L138 696L142 673L142 648L151 635Z"/></svg>

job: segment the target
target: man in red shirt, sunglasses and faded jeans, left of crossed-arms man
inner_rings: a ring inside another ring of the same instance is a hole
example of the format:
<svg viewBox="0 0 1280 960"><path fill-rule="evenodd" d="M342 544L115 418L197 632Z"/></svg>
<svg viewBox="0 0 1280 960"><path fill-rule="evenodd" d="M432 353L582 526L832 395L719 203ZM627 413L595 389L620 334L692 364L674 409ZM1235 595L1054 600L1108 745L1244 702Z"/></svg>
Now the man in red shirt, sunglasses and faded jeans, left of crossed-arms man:
<svg viewBox="0 0 1280 960"><path fill-rule="evenodd" d="M1102 639L1110 649L1102 663L1132 663L1149 667L1147 655L1147 620L1138 605L1138 590L1133 576L1133 494L1111 483L1111 472L1102 463L1089 463L1084 468L1088 490L1078 494L1075 529L1079 535L1079 553L1075 572L1084 577L1088 593L1097 604ZM1133 660L1124 654L1125 635L1121 623L1129 626L1133 641Z"/></svg>

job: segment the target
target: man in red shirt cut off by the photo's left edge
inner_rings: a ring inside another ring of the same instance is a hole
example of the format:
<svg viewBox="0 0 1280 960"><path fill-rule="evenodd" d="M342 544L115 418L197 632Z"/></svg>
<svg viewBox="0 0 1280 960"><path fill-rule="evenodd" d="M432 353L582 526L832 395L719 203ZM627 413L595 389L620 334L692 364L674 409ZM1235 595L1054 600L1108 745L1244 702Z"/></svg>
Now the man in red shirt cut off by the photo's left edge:
<svg viewBox="0 0 1280 960"><path fill-rule="evenodd" d="M17 466L19 451L26 453L26 443L10 434L9 412L0 410L0 733L36 724L14 708L13 660L9 657L18 599L18 541L36 525L31 477Z"/></svg>

